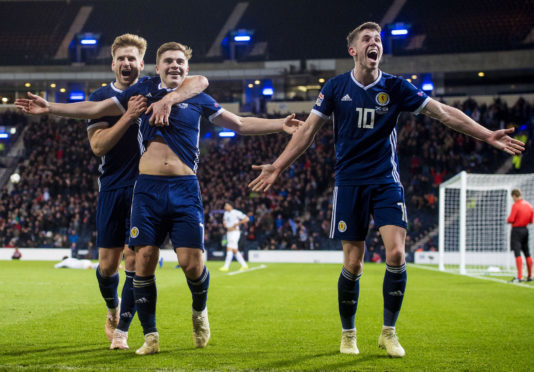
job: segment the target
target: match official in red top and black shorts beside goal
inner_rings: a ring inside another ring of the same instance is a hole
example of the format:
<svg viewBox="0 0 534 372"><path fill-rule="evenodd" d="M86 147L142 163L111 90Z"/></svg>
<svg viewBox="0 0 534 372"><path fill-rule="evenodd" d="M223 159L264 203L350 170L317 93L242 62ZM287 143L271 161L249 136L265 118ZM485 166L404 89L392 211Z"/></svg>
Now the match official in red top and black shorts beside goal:
<svg viewBox="0 0 534 372"><path fill-rule="evenodd" d="M521 259L521 251L525 255L527 261L528 278L527 282L532 281L532 257L528 249L528 229L527 225L532 223L534 211L532 205L526 200L523 200L521 191L519 189L512 190L512 211L508 217L508 223L512 224L512 235L510 245L515 255L515 264L517 267L517 277L512 279L513 283L523 281L523 260Z"/></svg>

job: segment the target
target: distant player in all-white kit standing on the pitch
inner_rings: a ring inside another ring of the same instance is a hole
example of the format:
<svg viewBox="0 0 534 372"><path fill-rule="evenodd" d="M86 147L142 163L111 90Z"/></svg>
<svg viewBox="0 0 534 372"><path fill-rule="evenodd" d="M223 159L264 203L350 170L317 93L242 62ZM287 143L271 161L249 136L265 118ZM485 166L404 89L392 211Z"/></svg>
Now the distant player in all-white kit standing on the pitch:
<svg viewBox="0 0 534 372"><path fill-rule="evenodd" d="M221 271L228 271L232 259L236 258L237 262L241 264L241 270L248 269L248 265L243 259L243 255L238 250L239 238L241 237L241 230L239 225L248 223L249 218L246 214L238 209L234 209L232 204L226 202L224 204L223 225L226 229L226 260L224 266L220 268Z"/></svg>

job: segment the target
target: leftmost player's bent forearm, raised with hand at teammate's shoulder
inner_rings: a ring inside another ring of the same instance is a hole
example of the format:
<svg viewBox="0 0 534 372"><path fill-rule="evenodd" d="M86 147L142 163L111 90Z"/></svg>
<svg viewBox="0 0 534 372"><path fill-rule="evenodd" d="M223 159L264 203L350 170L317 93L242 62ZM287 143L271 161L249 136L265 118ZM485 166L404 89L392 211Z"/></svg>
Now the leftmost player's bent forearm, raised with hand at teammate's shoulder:
<svg viewBox="0 0 534 372"><path fill-rule="evenodd" d="M94 127L87 132L93 153L96 156L106 155L145 110L146 99L143 96L133 96L128 101L128 110L115 125L106 127L107 123L102 123L102 125L94 124Z"/></svg>

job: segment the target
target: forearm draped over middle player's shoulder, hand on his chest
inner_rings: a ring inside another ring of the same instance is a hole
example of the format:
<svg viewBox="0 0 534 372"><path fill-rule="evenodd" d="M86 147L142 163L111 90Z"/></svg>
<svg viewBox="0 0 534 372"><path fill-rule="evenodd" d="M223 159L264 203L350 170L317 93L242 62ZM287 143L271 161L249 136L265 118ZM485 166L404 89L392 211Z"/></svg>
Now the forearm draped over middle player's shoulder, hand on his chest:
<svg viewBox="0 0 534 372"><path fill-rule="evenodd" d="M157 102L150 105L147 114L152 112L149 119L150 125L169 125L169 115L171 107L202 93L209 86L208 79L202 75L193 75L185 78L180 87Z"/></svg>

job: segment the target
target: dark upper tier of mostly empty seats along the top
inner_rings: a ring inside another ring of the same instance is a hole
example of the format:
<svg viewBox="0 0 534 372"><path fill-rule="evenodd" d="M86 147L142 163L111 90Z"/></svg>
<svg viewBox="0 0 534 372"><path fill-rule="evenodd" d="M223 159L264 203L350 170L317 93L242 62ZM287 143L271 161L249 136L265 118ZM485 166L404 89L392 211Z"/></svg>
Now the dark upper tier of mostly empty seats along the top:
<svg viewBox="0 0 534 372"><path fill-rule="evenodd" d="M171 39L190 45L195 62L220 61L224 54L208 57L207 53L238 4L243 4L244 11L232 30L251 30L254 40L263 43L263 48L243 54L240 60L346 58L346 34L367 20L387 22L386 30L397 22L410 26L407 38L392 40L399 55L534 47L534 5L520 0L507 2L506 7L497 0L409 0L391 19L386 16L392 4L386 0L331 0L327 5L312 0L221 0L216 4L197 0L172 5L164 0L8 1L0 2L0 12L7 15L0 25L0 65L66 62L54 56L83 6L90 8L90 14L79 32L100 35L102 46L109 46L118 34L132 32L150 41L148 63L154 63L157 47ZM325 17L325 6L343 11ZM191 27L191 20L198 20L198 25ZM107 53L100 57L87 62L110 60Z"/></svg>

